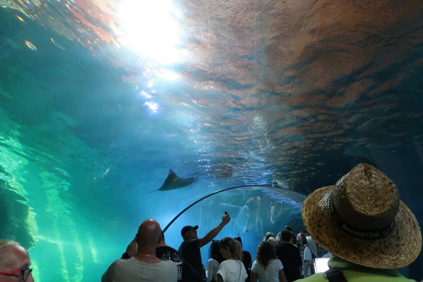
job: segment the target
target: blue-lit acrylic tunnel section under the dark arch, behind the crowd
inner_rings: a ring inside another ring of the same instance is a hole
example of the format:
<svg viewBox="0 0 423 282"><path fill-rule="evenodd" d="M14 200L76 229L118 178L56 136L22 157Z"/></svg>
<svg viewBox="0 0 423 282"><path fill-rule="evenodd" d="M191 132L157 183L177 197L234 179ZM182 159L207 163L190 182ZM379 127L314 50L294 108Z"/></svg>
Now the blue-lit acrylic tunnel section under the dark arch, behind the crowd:
<svg viewBox="0 0 423 282"><path fill-rule="evenodd" d="M231 215L231 221L215 239L241 236L243 249L253 258L266 232L277 234L286 225L291 225L297 232L304 229L301 207L306 196L303 194L261 186L221 191L189 205L168 228L163 225L166 243L177 249L182 242L180 231L185 225L198 225L198 237L204 236L221 222L224 212ZM209 244L201 248L204 266L208 260L208 248Z"/></svg>

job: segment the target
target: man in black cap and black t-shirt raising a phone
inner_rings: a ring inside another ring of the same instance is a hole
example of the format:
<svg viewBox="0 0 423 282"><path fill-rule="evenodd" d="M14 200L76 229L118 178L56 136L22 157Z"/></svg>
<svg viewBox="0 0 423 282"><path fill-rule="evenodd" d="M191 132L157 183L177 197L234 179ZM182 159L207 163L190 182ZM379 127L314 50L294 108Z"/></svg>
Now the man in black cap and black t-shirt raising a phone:
<svg viewBox="0 0 423 282"><path fill-rule="evenodd" d="M225 225L231 220L230 215L222 217L222 222L210 230L204 237L198 238L196 226L184 226L181 230L181 236L184 239L179 247L179 253L182 256L182 281L183 282L203 282L206 281L204 266L201 262L200 248L215 238Z"/></svg>

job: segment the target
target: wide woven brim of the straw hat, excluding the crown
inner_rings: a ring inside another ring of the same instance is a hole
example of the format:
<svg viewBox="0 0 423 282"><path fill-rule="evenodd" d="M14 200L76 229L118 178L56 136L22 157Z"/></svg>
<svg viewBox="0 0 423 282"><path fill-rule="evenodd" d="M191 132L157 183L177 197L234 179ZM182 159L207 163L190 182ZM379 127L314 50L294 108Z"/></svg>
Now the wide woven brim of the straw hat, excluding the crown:
<svg viewBox="0 0 423 282"><path fill-rule="evenodd" d="M382 239L363 239L339 228L330 213L332 186L313 191L303 203L304 225L311 237L334 256L363 266L393 269L413 262L421 249L421 232L411 210L400 201L392 232Z"/></svg>

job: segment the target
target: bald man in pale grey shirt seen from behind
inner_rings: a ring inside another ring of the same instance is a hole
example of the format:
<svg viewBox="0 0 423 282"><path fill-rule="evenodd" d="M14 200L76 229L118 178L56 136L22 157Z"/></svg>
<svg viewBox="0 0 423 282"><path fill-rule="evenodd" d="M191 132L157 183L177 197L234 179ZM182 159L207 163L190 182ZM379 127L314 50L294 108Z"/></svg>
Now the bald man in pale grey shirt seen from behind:
<svg viewBox="0 0 423 282"><path fill-rule="evenodd" d="M178 280L178 269L171 261L162 261L156 256L156 247L161 240L160 224L152 219L138 227L135 242L136 254L129 259L115 260L103 274L102 282L150 282Z"/></svg>

